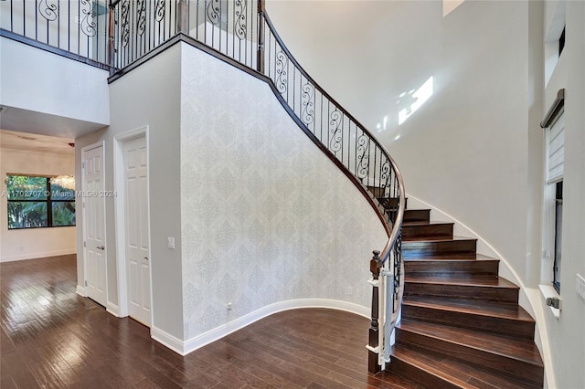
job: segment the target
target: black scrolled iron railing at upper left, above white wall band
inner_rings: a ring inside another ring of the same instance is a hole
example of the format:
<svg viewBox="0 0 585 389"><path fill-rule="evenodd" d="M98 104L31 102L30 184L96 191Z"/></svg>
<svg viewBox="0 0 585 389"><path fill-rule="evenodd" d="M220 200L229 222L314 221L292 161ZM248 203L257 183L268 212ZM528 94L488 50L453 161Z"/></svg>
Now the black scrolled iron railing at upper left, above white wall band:
<svg viewBox="0 0 585 389"><path fill-rule="evenodd" d="M82 58L107 63L107 0L5 0L0 28Z"/></svg>

